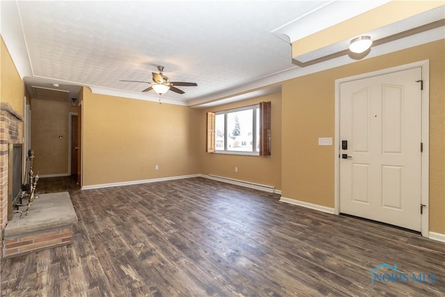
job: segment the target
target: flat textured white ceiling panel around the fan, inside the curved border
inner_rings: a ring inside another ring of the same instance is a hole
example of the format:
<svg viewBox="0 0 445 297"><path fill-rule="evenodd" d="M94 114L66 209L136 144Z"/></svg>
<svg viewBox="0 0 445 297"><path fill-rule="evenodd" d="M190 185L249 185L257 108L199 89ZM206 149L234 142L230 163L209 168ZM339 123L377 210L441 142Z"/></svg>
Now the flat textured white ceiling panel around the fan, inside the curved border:
<svg viewBox="0 0 445 297"><path fill-rule="evenodd" d="M326 1L19 1L35 77L139 93L157 65L189 100L295 67L270 33ZM152 93L153 94L153 93ZM147 94L149 95L149 94Z"/></svg>

